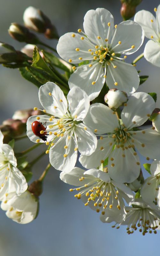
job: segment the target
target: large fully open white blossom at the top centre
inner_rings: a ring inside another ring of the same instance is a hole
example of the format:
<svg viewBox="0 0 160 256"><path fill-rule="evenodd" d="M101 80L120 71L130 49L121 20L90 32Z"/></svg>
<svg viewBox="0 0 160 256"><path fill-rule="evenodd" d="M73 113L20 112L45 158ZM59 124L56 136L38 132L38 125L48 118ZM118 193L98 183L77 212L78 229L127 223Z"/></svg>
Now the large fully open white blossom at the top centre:
<svg viewBox="0 0 160 256"><path fill-rule="evenodd" d="M71 63L89 60L69 78L69 87L83 89L90 100L95 99L106 79L110 89L118 89L127 94L135 92L139 86L139 76L135 67L125 63L129 54L136 52L144 40L144 32L138 23L127 20L115 25L112 14L104 9L88 11L84 16L84 32L66 33L57 45L60 57ZM121 54L125 54L120 58ZM106 77L107 74L107 77Z"/></svg>

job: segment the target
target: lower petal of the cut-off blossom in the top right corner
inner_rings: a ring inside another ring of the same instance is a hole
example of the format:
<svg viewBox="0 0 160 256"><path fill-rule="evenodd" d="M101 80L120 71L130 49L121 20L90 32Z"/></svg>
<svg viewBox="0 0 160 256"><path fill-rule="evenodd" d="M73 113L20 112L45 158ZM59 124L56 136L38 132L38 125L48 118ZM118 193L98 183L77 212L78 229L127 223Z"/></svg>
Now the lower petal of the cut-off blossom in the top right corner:
<svg viewBox="0 0 160 256"><path fill-rule="evenodd" d="M144 57L153 65L160 67L160 44L149 40L144 49Z"/></svg>

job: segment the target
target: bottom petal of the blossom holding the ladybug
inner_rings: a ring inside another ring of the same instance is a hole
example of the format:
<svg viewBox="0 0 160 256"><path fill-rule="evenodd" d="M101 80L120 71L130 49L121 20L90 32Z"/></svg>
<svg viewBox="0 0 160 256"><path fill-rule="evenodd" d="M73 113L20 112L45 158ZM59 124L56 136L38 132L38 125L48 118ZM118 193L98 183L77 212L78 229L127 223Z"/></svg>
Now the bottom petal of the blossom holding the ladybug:
<svg viewBox="0 0 160 256"><path fill-rule="evenodd" d="M50 149L50 163L56 170L69 172L71 171L76 164L77 159L77 148L76 142L73 137L69 140L69 145L66 149L64 146L68 145L68 136L59 141ZM67 157L64 157L64 154L67 154Z"/></svg>

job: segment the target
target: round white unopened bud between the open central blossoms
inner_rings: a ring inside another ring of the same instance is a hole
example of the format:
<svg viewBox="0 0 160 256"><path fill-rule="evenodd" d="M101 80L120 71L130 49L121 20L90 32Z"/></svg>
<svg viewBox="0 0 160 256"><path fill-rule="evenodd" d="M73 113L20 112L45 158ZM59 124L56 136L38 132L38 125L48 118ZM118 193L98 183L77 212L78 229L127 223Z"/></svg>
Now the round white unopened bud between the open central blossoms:
<svg viewBox="0 0 160 256"><path fill-rule="evenodd" d="M109 108L118 108L127 101L127 94L113 88L104 96L104 101L108 104Z"/></svg>

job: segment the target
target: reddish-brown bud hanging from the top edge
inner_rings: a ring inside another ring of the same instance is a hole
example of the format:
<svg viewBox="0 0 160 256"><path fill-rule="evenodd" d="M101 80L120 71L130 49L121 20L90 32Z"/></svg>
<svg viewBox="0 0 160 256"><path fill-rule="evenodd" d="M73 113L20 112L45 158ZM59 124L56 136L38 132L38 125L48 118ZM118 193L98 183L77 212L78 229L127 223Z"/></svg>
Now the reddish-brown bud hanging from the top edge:
<svg viewBox="0 0 160 256"><path fill-rule="evenodd" d="M136 6L141 3L142 0L121 0L121 16L124 20L129 20L136 13Z"/></svg>

